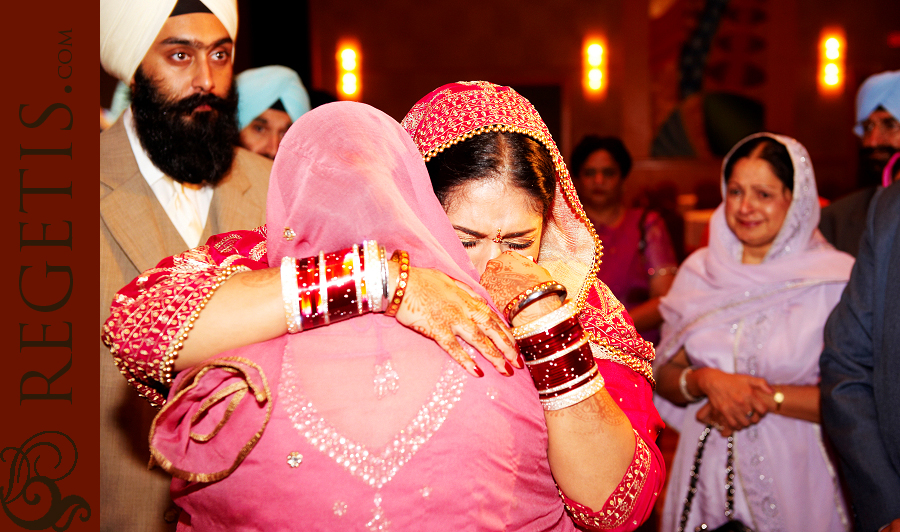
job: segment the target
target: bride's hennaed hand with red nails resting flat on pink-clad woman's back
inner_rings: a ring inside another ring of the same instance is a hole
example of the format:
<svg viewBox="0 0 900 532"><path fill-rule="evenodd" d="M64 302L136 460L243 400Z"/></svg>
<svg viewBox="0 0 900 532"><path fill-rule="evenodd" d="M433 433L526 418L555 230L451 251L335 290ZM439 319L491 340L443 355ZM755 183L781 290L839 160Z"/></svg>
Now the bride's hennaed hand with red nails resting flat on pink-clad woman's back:
<svg viewBox="0 0 900 532"><path fill-rule="evenodd" d="M389 266L396 268L396 264ZM395 279L396 272L390 278ZM394 287L390 288L393 293ZM507 376L513 372L510 362L523 367L506 323L468 286L438 270L410 268L397 321L437 342L476 377L483 377L484 372L472 359L475 352ZM474 349L464 349L457 336Z"/></svg>

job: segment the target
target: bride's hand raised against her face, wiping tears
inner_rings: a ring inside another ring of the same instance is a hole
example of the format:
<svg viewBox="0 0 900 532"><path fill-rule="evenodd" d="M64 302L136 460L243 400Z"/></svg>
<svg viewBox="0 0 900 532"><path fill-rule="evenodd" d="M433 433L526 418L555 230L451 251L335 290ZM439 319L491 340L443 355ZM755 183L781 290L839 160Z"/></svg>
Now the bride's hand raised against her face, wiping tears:
<svg viewBox="0 0 900 532"><path fill-rule="evenodd" d="M481 274L481 286L488 291L501 312L517 295L532 286L552 280L550 272L514 251L504 251L499 257L491 259ZM513 325L533 321L556 310L560 305L557 297L543 297L517 314Z"/></svg>

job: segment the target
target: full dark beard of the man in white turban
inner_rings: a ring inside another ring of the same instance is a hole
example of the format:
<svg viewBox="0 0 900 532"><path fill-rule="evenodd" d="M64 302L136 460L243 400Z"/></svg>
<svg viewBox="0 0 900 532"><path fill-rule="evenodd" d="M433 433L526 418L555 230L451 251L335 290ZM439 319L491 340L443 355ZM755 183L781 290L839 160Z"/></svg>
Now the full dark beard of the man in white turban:
<svg viewBox="0 0 900 532"><path fill-rule="evenodd" d="M192 111L198 105L212 111ZM131 90L134 125L150 160L180 183L215 185L234 161L238 143L237 92L228 96L194 94L171 101L138 68Z"/></svg>

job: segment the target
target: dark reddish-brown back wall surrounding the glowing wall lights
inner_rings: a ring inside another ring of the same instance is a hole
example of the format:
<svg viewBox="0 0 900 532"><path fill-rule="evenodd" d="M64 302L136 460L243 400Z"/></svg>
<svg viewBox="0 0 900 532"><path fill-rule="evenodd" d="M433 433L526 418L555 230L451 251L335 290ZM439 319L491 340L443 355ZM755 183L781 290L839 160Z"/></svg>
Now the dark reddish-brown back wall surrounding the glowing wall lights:
<svg viewBox="0 0 900 532"><path fill-rule="evenodd" d="M441 84L485 79L505 85L562 87L564 155L586 133L621 136L635 155L631 194L675 181L687 191L715 183L720 161L649 159L651 74L650 0L310 0L312 85L335 90L341 38L362 52L362 100L400 119ZM814 161L820 192L839 196L855 184L857 141L850 128L856 88L868 75L900 69L900 49L887 45L900 30L896 0L778 0L760 2L766 25L768 81L762 99L766 127L803 142ZM865 6L865 7L862 7ZM823 98L816 87L817 45L826 25L847 35L847 79L842 95ZM581 88L581 47L597 32L608 43L609 86L602 101Z"/></svg>

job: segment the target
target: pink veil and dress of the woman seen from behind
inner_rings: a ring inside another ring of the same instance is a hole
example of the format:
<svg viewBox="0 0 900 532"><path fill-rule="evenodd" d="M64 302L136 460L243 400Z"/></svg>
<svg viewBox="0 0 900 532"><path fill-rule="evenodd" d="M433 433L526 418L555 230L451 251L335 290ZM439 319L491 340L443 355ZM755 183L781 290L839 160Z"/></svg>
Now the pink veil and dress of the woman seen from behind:
<svg viewBox="0 0 900 532"><path fill-rule="evenodd" d="M267 227L272 265L375 238L487 296L412 141L363 104L329 104L291 127ZM472 378L380 314L182 372L151 447L176 477L185 529L573 530L527 372Z"/></svg>

